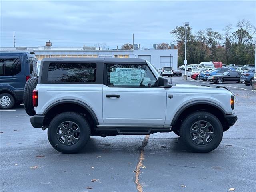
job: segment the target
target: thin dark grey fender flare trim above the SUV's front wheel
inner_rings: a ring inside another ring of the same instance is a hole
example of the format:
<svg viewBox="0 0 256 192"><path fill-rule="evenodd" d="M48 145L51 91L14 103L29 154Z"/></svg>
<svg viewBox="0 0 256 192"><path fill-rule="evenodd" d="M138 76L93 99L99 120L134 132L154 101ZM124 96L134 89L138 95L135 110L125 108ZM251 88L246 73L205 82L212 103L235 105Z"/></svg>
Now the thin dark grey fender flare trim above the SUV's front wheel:
<svg viewBox="0 0 256 192"><path fill-rule="evenodd" d="M210 105L213 107L216 107L218 110L220 110L223 114L226 114L225 110L219 106L218 104L211 102L211 101L192 101L192 102L188 102L186 104L184 104L174 115L174 118L172 119L172 123L171 126L174 126L175 123L177 122L178 118L180 117L180 114L182 114L182 112L184 112L184 110L186 110L187 108L194 106L194 105L198 105L198 104L206 104L206 105Z"/></svg>

